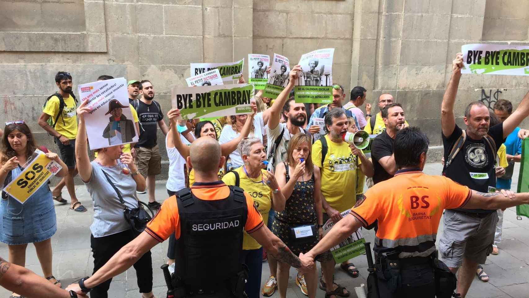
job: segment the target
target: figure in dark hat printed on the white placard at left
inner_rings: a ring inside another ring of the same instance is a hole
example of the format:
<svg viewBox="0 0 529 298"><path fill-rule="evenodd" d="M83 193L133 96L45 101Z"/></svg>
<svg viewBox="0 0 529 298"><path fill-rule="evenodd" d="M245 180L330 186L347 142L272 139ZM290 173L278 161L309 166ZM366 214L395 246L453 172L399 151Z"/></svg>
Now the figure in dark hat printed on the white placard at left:
<svg viewBox="0 0 529 298"><path fill-rule="evenodd" d="M103 131L103 138L108 139L109 146L132 142L136 136L134 123L122 113L124 108L127 106L122 105L117 100L108 103L108 112L105 115L112 114L112 116L108 119L110 122Z"/></svg>

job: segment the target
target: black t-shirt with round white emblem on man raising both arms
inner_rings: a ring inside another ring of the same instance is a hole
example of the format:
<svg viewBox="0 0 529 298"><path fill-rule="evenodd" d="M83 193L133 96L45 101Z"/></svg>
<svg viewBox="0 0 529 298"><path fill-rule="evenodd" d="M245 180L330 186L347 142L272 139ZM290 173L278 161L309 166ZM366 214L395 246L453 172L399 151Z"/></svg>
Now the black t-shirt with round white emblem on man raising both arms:
<svg viewBox="0 0 529 298"><path fill-rule="evenodd" d="M463 131L455 125L449 138L442 134L444 160L448 159L450 151ZM503 123L489 128L489 135L496 143L496 150L505 139L503 138ZM494 144L492 144L494 145ZM452 160L448 168L443 168L443 174L455 182L468 186L475 191L488 193L496 187L495 171L496 152L492 152L485 139L473 140L467 134L467 139L459 153ZM461 211L469 211L461 209ZM494 212L495 210L472 210L472 212Z"/></svg>

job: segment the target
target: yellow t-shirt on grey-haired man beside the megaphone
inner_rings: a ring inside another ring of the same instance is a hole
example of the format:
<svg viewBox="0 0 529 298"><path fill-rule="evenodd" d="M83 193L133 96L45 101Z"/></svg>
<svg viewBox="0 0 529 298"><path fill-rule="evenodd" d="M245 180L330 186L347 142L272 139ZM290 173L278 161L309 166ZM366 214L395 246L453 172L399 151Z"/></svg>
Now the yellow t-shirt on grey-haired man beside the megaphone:
<svg viewBox="0 0 529 298"><path fill-rule="evenodd" d="M327 141L327 155L322 166L322 141L317 140L312 145L312 162L320 167L322 173L322 193L325 200L336 211L343 212L351 209L356 202L359 184L358 171L360 159L353 155L349 144L346 142L335 143L329 135ZM325 212L325 210L324 210Z"/></svg>

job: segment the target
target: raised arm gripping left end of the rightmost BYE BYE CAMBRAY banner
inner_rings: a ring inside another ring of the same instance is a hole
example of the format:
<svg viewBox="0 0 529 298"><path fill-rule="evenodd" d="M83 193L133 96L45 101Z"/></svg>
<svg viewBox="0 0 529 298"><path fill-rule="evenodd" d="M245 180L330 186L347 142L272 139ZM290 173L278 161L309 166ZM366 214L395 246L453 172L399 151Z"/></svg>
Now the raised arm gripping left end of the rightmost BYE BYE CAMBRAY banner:
<svg viewBox="0 0 529 298"><path fill-rule="evenodd" d="M455 128L454 103L455 95L458 93L459 80L461 79L461 68L463 67L463 54L458 53L452 61L452 76L446 86L441 104L441 128L446 138L452 135ZM504 130L505 131L505 130Z"/></svg>

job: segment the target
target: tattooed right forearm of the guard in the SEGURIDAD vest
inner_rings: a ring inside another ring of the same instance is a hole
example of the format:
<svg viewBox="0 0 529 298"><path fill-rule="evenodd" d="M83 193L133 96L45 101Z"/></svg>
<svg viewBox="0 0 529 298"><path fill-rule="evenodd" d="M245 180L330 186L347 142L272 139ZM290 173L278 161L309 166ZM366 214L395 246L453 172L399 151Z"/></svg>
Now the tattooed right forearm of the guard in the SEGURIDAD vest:
<svg viewBox="0 0 529 298"><path fill-rule="evenodd" d="M256 239L276 260L298 268L300 272L308 272L314 266L313 261L302 262L281 239L270 232L266 225L252 232L250 236Z"/></svg>

